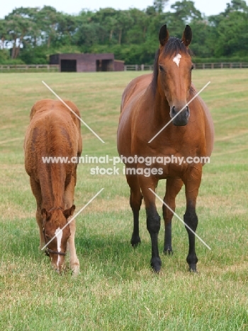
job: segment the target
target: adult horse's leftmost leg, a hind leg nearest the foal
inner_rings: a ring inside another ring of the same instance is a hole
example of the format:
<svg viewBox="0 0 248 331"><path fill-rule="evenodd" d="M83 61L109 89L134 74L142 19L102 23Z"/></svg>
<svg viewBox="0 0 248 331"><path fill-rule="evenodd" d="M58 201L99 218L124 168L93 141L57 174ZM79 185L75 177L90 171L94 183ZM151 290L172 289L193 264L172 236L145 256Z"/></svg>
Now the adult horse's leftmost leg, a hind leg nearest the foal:
<svg viewBox="0 0 248 331"><path fill-rule="evenodd" d="M139 214L142 194L137 175L127 175L126 177L128 185L130 186L130 207L133 211L133 235L130 242L133 247L136 247L140 243Z"/></svg>

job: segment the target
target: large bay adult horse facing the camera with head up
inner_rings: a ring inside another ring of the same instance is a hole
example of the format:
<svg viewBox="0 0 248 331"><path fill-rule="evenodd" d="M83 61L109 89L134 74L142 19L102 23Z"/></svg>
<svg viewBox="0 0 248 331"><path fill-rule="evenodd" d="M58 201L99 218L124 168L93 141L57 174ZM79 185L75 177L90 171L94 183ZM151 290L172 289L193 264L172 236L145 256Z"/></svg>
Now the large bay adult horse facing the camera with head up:
<svg viewBox="0 0 248 331"><path fill-rule="evenodd" d="M152 242L151 266L154 272L159 272L162 265L158 250L160 216L157 213L154 193L150 189L155 191L158 181L166 179L164 202L174 211L176 195L185 185L184 223L196 232L196 199L204 163L190 163L186 160L188 156L193 160L195 157L210 156L213 150L213 120L207 106L199 96L192 100L189 106L186 105L197 94L191 83L193 63L188 50L191 39L192 31L189 25L186 25L181 40L169 37L167 25L163 25L159 30L160 45L153 74L133 79L123 92L120 107L117 146L119 155L123 156L126 179L130 186L130 207L133 211L131 244L135 247L140 243L139 211L144 197L147 230ZM171 122L168 124L169 121ZM166 124L167 127L152 139ZM137 162L134 164L135 156ZM142 158L140 160L141 156L152 157L152 164L145 165ZM184 158L184 162L160 163L161 158L171 159L172 156ZM145 173L147 166L150 168L150 175ZM173 212L163 205L164 253L168 255L173 252L173 215ZM198 258L195 235L187 227L186 231L189 242L186 261L189 270L196 272Z"/></svg>

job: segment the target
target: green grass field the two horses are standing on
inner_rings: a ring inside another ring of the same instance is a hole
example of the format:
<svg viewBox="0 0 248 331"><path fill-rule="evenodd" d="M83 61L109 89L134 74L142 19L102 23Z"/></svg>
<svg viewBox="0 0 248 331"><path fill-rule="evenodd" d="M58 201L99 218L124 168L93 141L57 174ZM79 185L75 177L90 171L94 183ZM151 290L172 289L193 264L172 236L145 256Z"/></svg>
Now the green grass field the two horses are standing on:
<svg viewBox="0 0 248 331"><path fill-rule="evenodd" d="M130 246L132 213L124 175L90 175L79 165L75 204L81 274L58 275L38 250L35 199L23 165L23 138L33 103L62 98L79 107L86 127L83 156L117 156L120 97L137 72L0 74L1 239L0 330L248 330L248 70L193 71L193 82L215 122L215 149L203 169L196 239L198 274L186 263L188 236L174 219L174 255L162 255L162 272L150 269L150 236L142 205L142 244ZM165 182L157 193L163 197ZM184 215L184 190L176 212ZM159 214L162 206L157 202Z"/></svg>

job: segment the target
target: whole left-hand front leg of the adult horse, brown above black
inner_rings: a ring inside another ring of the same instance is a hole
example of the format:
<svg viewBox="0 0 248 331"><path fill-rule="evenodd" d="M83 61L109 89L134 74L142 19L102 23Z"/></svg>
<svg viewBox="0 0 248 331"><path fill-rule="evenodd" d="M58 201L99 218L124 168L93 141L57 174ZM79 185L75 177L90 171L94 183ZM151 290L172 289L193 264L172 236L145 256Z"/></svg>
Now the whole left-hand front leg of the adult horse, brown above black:
<svg viewBox="0 0 248 331"><path fill-rule="evenodd" d="M154 193L149 190L151 188L153 191L155 191L157 187L157 181L157 178L154 178L154 176L150 176L148 178L143 175L139 176L140 187L145 200L145 210L147 213L147 230L150 233L152 241L151 267L154 269L154 272L159 272L162 265L158 248L160 216L157 213Z"/></svg>

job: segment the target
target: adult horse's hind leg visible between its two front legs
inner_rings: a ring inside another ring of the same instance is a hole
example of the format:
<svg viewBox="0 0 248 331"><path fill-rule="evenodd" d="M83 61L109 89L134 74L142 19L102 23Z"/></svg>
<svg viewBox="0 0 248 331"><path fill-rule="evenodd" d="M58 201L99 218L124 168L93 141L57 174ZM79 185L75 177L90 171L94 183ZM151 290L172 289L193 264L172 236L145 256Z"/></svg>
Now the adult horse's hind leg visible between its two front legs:
<svg viewBox="0 0 248 331"><path fill-rule="evenodd" d="M181 179L169 178L167 179L167 189L164 196L164 202L173 211L176 208L176 195L179 194L184 182ZM169 208L163 204L163 216L164 216L164 253L168 255L173 254L171 246L171 219L173 213Z"/></svg>

